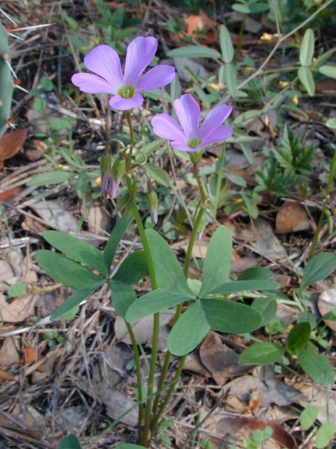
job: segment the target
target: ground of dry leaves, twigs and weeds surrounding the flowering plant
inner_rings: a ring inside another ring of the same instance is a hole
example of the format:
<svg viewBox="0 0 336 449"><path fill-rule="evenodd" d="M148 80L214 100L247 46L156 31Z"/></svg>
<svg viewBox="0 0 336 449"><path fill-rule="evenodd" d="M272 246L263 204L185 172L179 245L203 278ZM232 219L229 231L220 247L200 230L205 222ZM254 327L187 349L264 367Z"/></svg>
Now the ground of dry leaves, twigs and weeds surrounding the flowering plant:
<svg viewBox="0 0 336 449"><path fill-rule="evenodd" d="M267 301L254 292L230 297L262 311L262 328L211 331L188 355L153 447L335 447L328 423L336 422L336 11L330 1L290 3L0 2L17 80L10 129L0 140L0 448L57 448L69 432L85 449L136 439L134 355L107 284L73 316L50 321L73 290L46 274L35 255L51 249L42 235L48 229L102 250L120 218L125 186L112 199L101 194L99 158L109 138L130 141L127 121L109 107L109 95L80 92L71 75L85 69L94 46L108 43L123 58L137 35L155 36L155 64L174 65L178 75L172 86L145 93L133 113L159 196L156 229L183 261L198 196L193 164L155 140L153 115L171 113L181 93L207 110L226 102L234 135L225 159L215 144L200 162L210 206L188 282L197 290L213 225L221 224L234 243L232 279L263 267L281 285ZM308 28L314 44L304 41ZM188 46L197 46L195 54ZM145 177L137 202L151 227ZM309 266L312 246L325 254ZM140 248L131 225L113 270ZM135 290L150 290L148 276ZM152 324L146 317L134 325L144 379ZM171 327L172 314L163 312L158 373ZM251 363L239 363L255 342L276 344L280 356L271 363L251 354ZM178 364L173 357L168 381ZM267 425L272 436L253 434Z"/></svg>

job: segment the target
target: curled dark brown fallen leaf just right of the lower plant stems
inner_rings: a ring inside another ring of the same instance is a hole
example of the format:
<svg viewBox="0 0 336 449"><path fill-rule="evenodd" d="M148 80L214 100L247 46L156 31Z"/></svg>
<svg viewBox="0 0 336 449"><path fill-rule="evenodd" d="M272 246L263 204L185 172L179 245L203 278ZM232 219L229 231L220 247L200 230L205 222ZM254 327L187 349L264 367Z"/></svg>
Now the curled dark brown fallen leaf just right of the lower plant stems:
<svg viewBox="0 0 336 449"><path fill-rule="evenodd" d="M224 385L229 377L248 373L254 367L239 364L239 355L224 344L216 332L209 332L204 338L200 359L218 385Z"/></svg>

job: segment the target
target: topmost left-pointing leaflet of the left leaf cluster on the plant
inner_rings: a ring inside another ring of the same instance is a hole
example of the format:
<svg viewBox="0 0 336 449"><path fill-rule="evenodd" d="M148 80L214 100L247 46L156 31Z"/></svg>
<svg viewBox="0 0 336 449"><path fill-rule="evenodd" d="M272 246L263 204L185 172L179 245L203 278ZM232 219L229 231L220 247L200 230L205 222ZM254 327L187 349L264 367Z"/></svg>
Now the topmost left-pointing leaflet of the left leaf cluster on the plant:
<svg viewBox="0 0 336 449"><path fill-rule="evenodd" d="M108 276L103 253L86 241L59 231L45 231L43 232L43 238L71 259L77 260L87 267L97 269L99 273Z"/></svg>

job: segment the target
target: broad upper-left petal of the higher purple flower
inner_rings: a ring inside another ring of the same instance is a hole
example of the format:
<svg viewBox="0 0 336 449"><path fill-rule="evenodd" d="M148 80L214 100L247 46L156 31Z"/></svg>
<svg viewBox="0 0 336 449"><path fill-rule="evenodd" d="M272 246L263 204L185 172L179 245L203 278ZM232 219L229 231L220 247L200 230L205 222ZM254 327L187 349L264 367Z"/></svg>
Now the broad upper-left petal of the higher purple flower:
<svg viewBox="0 0 336 449"><path fill-rule="evenodd" d="M123 84L123 72L121 72L120 58L116 50L109 45L99 45L93 48L84 58L84 65L91 72L97 73L111 84L109 92L116 93Z"/></svg>

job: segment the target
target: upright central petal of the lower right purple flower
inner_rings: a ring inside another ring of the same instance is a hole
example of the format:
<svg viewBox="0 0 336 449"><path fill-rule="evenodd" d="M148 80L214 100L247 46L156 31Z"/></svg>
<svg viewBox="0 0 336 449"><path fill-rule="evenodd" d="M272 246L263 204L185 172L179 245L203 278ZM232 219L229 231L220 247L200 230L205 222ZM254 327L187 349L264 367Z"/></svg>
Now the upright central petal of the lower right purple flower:
<svg viewBox="0 0 336 449"><path fill-rule="evenodd" d="M198 138L201 110L195 98L190 93L182 95L181 98L174 101L174 109L186 135L186 140Z"/></svg>

